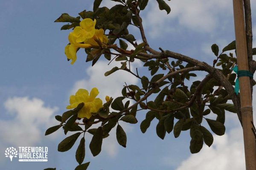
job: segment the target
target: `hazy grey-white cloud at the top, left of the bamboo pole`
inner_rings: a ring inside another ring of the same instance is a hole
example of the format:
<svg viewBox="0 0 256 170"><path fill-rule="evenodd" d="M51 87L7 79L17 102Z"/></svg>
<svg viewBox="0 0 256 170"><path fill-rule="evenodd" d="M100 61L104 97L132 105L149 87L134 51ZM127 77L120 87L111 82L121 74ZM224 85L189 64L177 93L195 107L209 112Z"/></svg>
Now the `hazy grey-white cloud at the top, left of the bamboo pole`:
<svg viewBox="0 0 256 170"><path fill-rule="evenodd" d="M148 13L143 17L143 24L151 37L159 32L176 31L181 27L202 33L210 33L217 27L225 28L227 19L232 19L233 6L223 0L172 0L167 2L172 11L160 11L156 2L150 2ZM233 19L232 19L233 20ZM172 23L170 26L169 23Z"/></svg>

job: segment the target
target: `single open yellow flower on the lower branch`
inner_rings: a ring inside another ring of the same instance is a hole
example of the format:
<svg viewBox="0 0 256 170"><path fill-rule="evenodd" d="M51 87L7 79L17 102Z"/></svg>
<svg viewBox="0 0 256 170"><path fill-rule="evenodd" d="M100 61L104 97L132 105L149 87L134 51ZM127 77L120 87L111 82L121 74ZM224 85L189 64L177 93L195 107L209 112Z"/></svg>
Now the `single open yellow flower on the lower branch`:
<svg viewBox="0 0 256 170"><path fill-rule="evenodd" d="M89 119L92 112L97 112L99 108L103 107L102 100L96 98L98 94L99 91L95 87L90 91L90 95L86 89L79 89L76 95L70 96L70 105L67 106L67 109L76 108L80 103L84 103L84 106L78 112L78 117Z"/></svg>

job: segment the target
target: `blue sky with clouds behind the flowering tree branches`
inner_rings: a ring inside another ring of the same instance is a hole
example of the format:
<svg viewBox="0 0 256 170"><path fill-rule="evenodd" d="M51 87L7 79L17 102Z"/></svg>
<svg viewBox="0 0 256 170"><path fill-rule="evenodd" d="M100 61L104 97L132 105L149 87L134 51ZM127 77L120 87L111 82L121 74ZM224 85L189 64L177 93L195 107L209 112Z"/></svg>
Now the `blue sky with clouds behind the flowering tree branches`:
<svg viewBox="0 0 256 170"><path fill-rule="evenodd" d="M162 47L211 63L215 58L211 45L217 43L222 49L235 39L231 0L172 0L168 3L172 9L169 15L160 11L153 0L142 13L146 36L154 49ZM256 32L256 3L251 3ZM85 63L82 52L74 65L67 62L64 47L70 31L60 31L62 23L53 21L62 13L77 16L84 9L92 10L92 4L93 0L0 0L0 169L74 169L78 142L68 152L58 153L57 146L64 134L60 131L44 136L48 127L58 124L54 116L65 111L69 96L79 88L96 86L101 97L117 97L124 82L139 82L124 72L105 78L104 72L119 63L111 63L111 67L102 59L91 67L91 63ZM112 5L110 0L102 2L102 6ZM131 27L130 32L141 41L138 30ZM141 66L140 62L135 62L133 69L137 67L140 74L147 74ZM88 147L91 136L86 136L84 162L91 161L89 170L244 168L241 127L233 113L227 112L227 134L215 136L211 148L204 145L201 152L194 155L189 152L189 133L183 132L177 139L171 133L161 140L155 133L157 122L154 121L143 134L140 122L145 112L137 115L138 124L122 124L128 137L126 148L118 145L113 130L103 141L102 153L93 157ZM49 161L26 163L14 158L10 162L4 157L6 147L10 146L47 146ZM207 163L202 165L203 161Z"/></svg>

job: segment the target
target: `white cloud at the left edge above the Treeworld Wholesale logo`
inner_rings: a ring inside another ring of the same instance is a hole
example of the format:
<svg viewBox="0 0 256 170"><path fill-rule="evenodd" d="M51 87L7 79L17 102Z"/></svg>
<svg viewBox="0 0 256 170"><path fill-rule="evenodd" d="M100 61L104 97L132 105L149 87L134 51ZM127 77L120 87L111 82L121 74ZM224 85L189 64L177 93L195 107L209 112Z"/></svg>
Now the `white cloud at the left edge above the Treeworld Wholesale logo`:
<svg viewBox="0 0 256 170"><path fill-rule="evenodd" d="M0 120L0 145L33 146L41 141L45 130L52 126L57 107L45 107L44 101L28 97L9 98L4 107L12 119Z"/></svg>

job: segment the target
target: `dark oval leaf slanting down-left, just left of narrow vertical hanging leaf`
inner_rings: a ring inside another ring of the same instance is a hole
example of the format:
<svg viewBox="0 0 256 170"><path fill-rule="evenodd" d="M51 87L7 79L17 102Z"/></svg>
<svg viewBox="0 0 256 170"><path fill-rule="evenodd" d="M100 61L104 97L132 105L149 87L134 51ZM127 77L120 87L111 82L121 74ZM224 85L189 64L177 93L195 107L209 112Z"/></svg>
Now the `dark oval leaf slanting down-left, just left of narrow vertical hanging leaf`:
<svg viewBox="0 0 256 170"><path fill-rule="evenodd" d="M71 136L68 136L65 138L61 143L58 144L58 151L59 152L66 152L67 150L70 150L71 147L75 144L77 138L79 137L81 133L75 133Z"/></svg>

